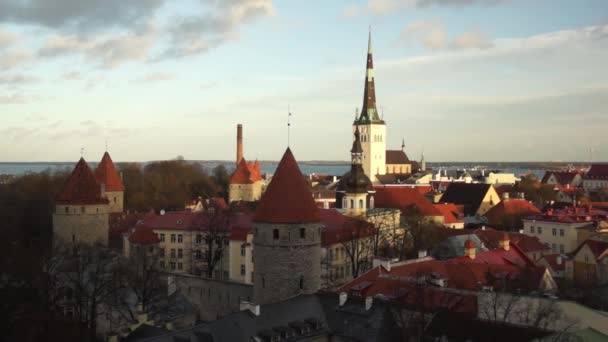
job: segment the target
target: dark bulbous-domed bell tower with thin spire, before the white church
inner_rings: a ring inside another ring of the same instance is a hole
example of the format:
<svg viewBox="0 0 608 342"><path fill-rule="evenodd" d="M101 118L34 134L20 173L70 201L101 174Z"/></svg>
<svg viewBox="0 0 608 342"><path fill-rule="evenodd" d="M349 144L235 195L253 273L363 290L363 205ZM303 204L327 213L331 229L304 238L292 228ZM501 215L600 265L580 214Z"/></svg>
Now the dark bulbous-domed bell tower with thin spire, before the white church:
<svg viewBox="0 0 608 342"><path fill-rule="evenodd" d="M350 150L350 172L340 179L336 189L336 207L342 208L348 215L359 216L367 209L374 208L374 186L363 171L363 148L361 147L361 134L355 130L355 141Z"/></svg>

